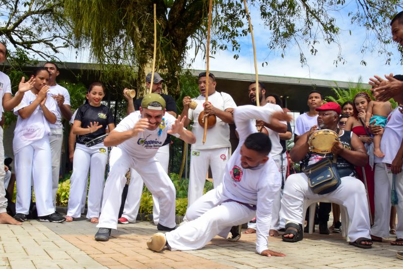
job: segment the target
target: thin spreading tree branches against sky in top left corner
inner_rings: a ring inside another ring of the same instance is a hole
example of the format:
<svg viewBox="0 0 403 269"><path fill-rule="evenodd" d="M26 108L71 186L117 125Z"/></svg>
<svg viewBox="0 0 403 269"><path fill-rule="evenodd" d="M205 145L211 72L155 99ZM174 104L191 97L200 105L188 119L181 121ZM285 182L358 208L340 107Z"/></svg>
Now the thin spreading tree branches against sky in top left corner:
<svg viewBox="0 0 403 269"><path fill-rule="evenodd" d="M26 54L57 60L62 48L71 46L70 26L61 16L61 0L0 0L0 40L9 58ZM11 46L10 46L11 45Z"/></svg>

